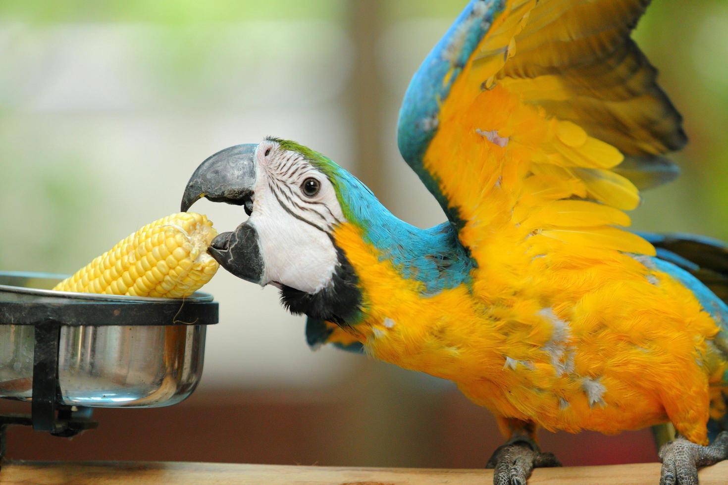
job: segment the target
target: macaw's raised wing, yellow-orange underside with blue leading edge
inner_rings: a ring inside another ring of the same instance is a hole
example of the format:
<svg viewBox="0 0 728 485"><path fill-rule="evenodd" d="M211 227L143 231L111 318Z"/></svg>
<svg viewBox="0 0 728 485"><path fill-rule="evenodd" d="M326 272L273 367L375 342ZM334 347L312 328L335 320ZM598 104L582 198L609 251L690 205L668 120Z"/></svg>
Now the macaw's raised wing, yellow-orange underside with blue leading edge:
<svg viewBox="0 0 728 485"><path fill-rule="evenodd" d="M630 39L647 4L473 0L414 76L400 152L476 262L503 228L654 254L614 227L629 225L622 210L638 205L638 188L677 175L661 155L686 143Z"/></svg>

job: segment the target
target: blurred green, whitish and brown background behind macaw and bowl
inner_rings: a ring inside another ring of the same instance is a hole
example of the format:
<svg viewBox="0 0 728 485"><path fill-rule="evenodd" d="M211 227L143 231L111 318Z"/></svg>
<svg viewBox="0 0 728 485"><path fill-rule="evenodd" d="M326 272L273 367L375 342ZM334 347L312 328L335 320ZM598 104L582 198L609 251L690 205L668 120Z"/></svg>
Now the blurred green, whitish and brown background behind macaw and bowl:
<svg viewBox="0 0 728 485"><path fill-rule="evenodd" d="M395 123L464 3L1 1L0 270L73 272L178 210L211 153L266 135L328 154L404 220L441 222ZM674 156L683 175L644 194L635 228L728 239L728 2L655 1L635 37L690 139ZM244 217L196 207L221 231ZM99 412L71 442L14 430L9 456L478 467L501 441L448 382L310 352L274 289L223 272L205 289L221 324L189 401ZM656 458L647 431L542 434L566 464Z"/></svg>

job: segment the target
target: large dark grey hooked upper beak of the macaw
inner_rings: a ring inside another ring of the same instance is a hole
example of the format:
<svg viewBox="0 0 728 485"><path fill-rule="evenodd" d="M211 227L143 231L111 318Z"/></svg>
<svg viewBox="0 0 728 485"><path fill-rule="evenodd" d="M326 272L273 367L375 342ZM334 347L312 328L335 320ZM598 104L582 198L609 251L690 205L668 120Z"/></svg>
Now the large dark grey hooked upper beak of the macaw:
<svg viewBox="0 0 728 485"><path fill-rule="evenodd" d="M197 167L182 196L182 212L205 197L213 202L245 206L253 212L256 185L255 153L258 145L248 143L218 151Z"/></svg>

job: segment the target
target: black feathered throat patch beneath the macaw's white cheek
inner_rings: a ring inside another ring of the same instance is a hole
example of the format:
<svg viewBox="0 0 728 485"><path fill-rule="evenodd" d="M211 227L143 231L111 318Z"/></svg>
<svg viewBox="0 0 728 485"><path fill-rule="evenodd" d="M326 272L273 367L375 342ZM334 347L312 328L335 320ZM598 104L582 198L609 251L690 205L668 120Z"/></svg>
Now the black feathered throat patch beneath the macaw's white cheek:
<svg viewBox="0 0 728 485"><path fill-rule="evenodd" d="M333 244L333 239L331 241ZM362 293L359 278L344 252L336 247L339 264L333 272L331 282L314 294L283 285L280 300L290 313L305 313L311 318L331 321L339 325L355 324L360 318Z"/></svg>

